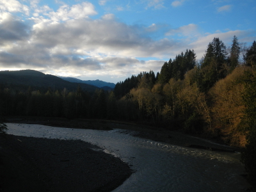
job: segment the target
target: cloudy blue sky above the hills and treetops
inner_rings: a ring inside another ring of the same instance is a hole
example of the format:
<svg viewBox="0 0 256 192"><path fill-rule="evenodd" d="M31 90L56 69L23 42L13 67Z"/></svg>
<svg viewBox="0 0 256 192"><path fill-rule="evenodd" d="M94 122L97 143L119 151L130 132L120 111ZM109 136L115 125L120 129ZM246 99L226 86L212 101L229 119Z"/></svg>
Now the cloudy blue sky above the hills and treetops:
<svg viewBox="0 0 256 192"><path fill-rule="evenodd" d="M214 37L250 47L255 18L255 0L1 0L0 70L118 83Z"/></svg>

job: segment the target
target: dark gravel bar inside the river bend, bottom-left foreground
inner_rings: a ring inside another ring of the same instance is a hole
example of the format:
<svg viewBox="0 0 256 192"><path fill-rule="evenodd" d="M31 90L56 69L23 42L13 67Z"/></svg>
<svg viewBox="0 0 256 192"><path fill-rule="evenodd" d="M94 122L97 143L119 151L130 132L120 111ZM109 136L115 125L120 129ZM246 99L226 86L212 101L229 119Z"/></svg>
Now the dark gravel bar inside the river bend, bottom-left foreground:
<svg viewBox="0 0 256 192"><path fill-rule="evenodd" d="M0 136L0 191L112 191L132 170L81 140Z"/></svg>

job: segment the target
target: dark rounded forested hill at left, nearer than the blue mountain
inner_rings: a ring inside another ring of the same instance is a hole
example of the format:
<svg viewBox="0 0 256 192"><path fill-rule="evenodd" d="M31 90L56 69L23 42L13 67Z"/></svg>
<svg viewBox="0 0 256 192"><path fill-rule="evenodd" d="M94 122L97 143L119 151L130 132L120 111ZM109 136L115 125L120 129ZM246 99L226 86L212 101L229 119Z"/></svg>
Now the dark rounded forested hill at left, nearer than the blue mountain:
<svg viewBox="0 0 256 192"><path fill-rule="evenodd" d="M88 92L94 92L97 89L96 86L90 84L71 83L60 77L45 75L36 70L0 71L0 84L51 88L52 90L63 90L67 88L69 91L75 91L80 86L82 90Z"/></svg>

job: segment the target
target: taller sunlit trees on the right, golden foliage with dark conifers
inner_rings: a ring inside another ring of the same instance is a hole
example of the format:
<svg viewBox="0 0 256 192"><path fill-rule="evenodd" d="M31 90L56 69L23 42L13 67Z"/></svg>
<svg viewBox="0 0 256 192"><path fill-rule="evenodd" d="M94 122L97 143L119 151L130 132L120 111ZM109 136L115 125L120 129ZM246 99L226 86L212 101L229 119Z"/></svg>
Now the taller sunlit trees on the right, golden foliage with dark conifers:
<svg viewBox="0 0 256 192"><path fill-rule="evenodd" d="M243 147L241 160L255 184L256 42L246 47L234 36L227 49L214 38L200 61L187 50L152 74L143 72L116 84L114 92L123 109L136 109L126 113L127 118L166 129L180 127Z"/></svg>

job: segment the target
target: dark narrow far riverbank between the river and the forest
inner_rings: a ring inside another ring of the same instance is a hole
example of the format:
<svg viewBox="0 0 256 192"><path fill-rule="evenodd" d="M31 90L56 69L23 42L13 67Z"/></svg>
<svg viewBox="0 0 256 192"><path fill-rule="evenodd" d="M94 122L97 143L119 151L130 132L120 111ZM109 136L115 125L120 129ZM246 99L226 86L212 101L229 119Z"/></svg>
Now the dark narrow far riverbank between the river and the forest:
<svg viewBox="0 0 256 192"><path fill-rule="evenodd" d="M124 129L135 131L133 136L146 138L148 140L161 141L171 145L182 147L203 148L206 150L223 150L226 152L241 152L241 148L224 145L223 141L214 138L202 138L202 136L193 136L184 134L181 131L169 131L161 127L136 124L132 122L118 122L111 120L88 120L66 118L38 118L38 117L9 117L6 122L17 124L40 124L52 127L67 127L76 129L95 129L111 130ZM124 131L125 133L125 131Z"/></svg>

